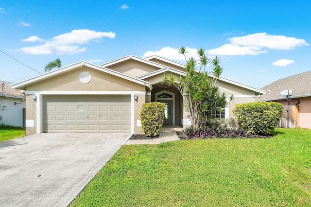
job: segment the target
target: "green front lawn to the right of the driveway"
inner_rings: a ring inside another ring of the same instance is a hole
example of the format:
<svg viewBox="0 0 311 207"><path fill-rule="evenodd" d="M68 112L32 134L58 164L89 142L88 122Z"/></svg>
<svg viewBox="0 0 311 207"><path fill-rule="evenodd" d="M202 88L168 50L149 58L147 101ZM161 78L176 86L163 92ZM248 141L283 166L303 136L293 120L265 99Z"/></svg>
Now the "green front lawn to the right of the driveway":
<svg viewBox="0 0 311 207"><path fill-rule="evenodd" d="M311 206L311 130L124 145L70 205Z"/></svg>

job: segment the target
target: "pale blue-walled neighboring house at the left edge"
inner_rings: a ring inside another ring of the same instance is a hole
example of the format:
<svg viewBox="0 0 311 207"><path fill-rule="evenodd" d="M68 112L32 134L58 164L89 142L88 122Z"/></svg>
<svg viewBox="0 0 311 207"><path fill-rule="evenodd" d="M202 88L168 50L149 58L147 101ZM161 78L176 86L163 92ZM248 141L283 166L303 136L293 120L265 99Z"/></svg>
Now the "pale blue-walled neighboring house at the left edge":
<svg viewBox="0 0 311 207"><path fill-rule="evenodd" d="M12 88L11 84L0 81L0 124L23 127L25 92Z"/></svg>

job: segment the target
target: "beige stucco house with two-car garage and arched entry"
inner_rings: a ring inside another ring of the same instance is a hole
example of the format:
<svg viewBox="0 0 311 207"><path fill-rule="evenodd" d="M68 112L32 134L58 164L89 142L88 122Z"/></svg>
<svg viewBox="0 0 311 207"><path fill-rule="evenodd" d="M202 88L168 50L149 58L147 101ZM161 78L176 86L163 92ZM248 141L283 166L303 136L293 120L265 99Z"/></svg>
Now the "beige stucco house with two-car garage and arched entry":
<svg viewBox="0 0 311 207"><path fill-rule="evenodd" d="M143 133L142 104L164 102L165 124L190 125L182 96L174 86L162 84L163 73L185 75L184 65L167 58L127 55L95 65L79 61L13 84L26 90L26 134L43 132ZM218 85L235 96L224 112L212 116L232 117L236 103L254 102L264 91L229 79Z"/></svg>

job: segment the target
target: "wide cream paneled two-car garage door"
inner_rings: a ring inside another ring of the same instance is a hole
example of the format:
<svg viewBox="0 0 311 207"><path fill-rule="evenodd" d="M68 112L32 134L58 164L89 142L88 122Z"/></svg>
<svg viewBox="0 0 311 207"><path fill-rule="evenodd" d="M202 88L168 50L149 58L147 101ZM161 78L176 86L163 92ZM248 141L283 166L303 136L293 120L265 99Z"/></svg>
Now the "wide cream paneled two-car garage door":
<svg viewBox="0 0 311 207"><path fill-rule="evenodd" d="M43 132L131 132L129 95L43 97Z"/></svg>

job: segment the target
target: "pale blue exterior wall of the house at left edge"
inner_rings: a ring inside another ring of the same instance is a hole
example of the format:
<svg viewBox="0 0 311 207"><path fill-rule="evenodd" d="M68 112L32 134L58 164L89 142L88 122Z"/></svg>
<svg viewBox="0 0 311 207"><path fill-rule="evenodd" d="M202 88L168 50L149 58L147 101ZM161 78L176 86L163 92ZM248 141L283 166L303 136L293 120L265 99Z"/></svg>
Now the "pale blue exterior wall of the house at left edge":
<svg viewBox="0 0 311 207"><path fill-rule="evenodd" d="M20 103L20 104L14 104ZM23 99L0 97L0 124L23 127Z"/></svg>

